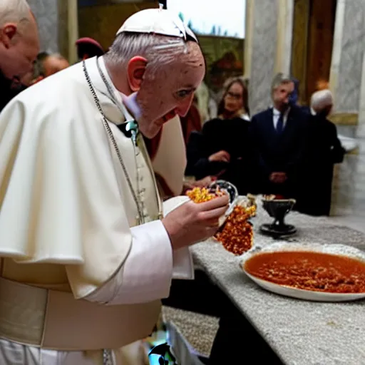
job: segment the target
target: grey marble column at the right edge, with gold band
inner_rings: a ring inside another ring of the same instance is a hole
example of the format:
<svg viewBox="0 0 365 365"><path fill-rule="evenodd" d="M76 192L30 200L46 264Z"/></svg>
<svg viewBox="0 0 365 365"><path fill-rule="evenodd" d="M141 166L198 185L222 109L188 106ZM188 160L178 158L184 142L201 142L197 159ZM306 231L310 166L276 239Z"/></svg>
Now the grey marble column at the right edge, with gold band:
<svg viewBox="0 0 365 365"><path fill-rule="evenodd" d="M333 215L365 215L365 1L338 0L330 88L339 133L359 149L335 168Z"/></svg>

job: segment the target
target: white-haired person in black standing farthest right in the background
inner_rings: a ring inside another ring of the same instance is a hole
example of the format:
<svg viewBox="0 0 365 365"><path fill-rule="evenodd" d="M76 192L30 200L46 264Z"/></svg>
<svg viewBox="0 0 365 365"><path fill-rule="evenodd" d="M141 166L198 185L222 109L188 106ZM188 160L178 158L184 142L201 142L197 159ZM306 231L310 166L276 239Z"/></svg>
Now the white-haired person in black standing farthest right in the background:
<svg viewBox="0 0 365 365"><path fill-rule="evenodd" d="M344 160L345 150L337 137L336 125L327 116L333 108L331 91L317 91L311 98L306 159L298 210L309 215L329 215L335 163Z"/></svg>

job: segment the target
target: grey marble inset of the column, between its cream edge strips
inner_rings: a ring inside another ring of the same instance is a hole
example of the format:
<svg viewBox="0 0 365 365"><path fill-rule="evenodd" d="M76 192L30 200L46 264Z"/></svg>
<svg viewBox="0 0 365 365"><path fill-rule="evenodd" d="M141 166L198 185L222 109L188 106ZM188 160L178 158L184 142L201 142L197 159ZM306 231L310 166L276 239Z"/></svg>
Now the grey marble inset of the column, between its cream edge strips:
<svg viewBox="0 0 365 365"><path fill-rule="evenodd" d="M277 52L278 1L252 1L252 49L248 75L252 114L266 109L271 104L270 88Z"/></svg>

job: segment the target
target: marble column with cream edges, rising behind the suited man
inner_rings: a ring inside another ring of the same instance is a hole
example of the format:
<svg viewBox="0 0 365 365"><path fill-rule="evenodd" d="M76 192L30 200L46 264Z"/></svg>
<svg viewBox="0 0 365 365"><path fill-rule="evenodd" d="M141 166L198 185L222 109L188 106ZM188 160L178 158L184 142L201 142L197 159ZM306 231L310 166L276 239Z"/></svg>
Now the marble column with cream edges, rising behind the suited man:
<svg viewBox="0 0 365 365"><path fill-rule="evenodd" d="M292 50L293 0L247 0L245 76L250 78L250 110L271 104L272 78L289 73Z"/></svg>

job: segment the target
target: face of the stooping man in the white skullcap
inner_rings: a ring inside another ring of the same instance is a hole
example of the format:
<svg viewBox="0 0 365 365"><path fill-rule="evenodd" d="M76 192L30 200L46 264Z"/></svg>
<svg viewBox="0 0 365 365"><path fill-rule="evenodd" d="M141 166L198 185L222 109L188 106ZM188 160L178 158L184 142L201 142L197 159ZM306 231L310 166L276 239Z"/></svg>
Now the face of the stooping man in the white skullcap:
<svg viewBox="0 0 365 365"><path fill-rule="evenodd" d="M187 53L172 63L150 71L148 66L138 91L140 131L147 138L157 135L163 123L175 115L185 116L194 91L205 75L205 62L197 43L187 43Z"/></svg>

